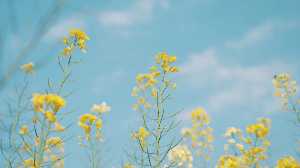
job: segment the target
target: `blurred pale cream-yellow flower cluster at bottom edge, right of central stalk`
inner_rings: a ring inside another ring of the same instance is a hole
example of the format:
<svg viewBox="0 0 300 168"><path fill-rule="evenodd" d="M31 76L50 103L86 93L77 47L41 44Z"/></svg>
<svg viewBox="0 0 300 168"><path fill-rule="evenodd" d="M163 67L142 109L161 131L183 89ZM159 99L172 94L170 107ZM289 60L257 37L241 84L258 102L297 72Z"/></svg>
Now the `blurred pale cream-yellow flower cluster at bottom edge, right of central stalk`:
<svg viewBox="0 0 300 168"><path fill-rule="evenodd" d="M171 164L174 164L175 161L177 160L179 167L182 167L184 163L187 163L186 166L187 168L193 168L194 158L191 155L191 152L187 146L180 146L180 145L175 146L168 153L168 157Z"/></svg>

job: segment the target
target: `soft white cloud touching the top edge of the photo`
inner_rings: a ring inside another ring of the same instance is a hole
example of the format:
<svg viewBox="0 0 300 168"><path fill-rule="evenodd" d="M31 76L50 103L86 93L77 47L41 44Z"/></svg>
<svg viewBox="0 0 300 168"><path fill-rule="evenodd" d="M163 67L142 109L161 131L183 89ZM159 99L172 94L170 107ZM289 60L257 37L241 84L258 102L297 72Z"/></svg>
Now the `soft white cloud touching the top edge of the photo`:
<svg viewBox="0 0 300 168"><path fill-rule="evenodd" d="M137 22L148 22L152 19L156 6L168 10L167 0L137 0L129 10L104 11L99 15L99 22L104 26L128 26Z"/></svg>

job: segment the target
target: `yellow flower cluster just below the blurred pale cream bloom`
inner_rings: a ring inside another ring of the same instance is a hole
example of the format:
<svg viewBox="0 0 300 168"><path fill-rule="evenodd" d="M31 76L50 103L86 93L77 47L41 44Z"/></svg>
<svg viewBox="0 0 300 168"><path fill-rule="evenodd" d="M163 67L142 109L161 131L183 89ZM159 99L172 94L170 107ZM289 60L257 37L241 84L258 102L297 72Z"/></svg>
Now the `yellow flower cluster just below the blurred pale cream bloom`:
<svg viewBox="0 0 300 168"><path fill-rule="evenodd" d="M101 129L102 120L100 118L98 118L96 115L93 115L93 114L84 114L84 115L81 115L78 118L80 119L80 121L78 121L78 125L81 126L81 128L85 130L85 134L88 134L88 135L86 135L85 140L90 140L91 141L90 126L93 125L95 120L98 119L98 121L96 123L96 130ZM100 134L100 132L97 132L96 138L100 138L100 137L102 137L102 135ZM82 136L79 136L78 138L81 140ZM82 144L82 143L78 143L78 145L84 146L84 144Z"/></svg>

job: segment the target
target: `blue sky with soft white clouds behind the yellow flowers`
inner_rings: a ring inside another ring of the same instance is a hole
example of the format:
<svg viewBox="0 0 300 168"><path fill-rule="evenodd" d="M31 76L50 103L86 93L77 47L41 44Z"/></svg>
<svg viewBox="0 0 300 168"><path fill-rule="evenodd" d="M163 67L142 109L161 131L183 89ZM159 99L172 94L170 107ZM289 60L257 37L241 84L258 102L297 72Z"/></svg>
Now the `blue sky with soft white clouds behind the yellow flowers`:
<svg viewBox="0 0 300 168"><path fill-rule="evenodd" d="M28 43L41 13L51 4L52 1L41 1L41 8L36 10L33 1L15 1L20 35L7 33L4 68ZM90 38L86 42L87 52L76 52L74 57L79 60L84 56L84 60L72 67L73 78L82 77L63 87L64 94L77 88L66 98L64 110L79 110L61 124L77 122L77 117L90 112L92 104L107 102L112 110L107 126L103 127L110 132L104 133L110 136L107 158L113 159L108 167L121 167L118 159L125 156L122 143L129 143L128 126L140 127L131 121L136 99L130 94L137 86L137 75L149 73L155 55L161 52L178 57L174 64L179 72L173 75L174 80L179 80L175 93L178 97L168 104L172 109L184 110L178 117L182 123L173 130L173 135L181 136L180 128L191 125L191 110L203 107L214 129L215 151L210 167L225 153L226 139L221 135L226 128L245 130L248 124L256 122L256 117L272 120L272 150L279 149L273 159L285 154L296 158L296 143L291 137L295 126L284 120L295 116L283 112L282 100L273 96L271 80L280 73L289 73L292 80L300 80L299 5L296 1L270 0L68 1L37 48L23 62L43 63L36 76L31 77L32 87L28 92L44 94L46 77L59 85L62 72L54 55L64 50L61 39L69 34L69 29L82 29ZM6 8L2 12L3 18L9 16ZM22 79L19 74L11 78L1 96L14 91L14 79ZM2 105L5 106L3 102ZM76 124L68 131L67 136L83 134ZM66 167L83 167L76 159L76 155L84 152L77 142L74 137L65 147L66 153L76 149L67 158Z"/></svg>

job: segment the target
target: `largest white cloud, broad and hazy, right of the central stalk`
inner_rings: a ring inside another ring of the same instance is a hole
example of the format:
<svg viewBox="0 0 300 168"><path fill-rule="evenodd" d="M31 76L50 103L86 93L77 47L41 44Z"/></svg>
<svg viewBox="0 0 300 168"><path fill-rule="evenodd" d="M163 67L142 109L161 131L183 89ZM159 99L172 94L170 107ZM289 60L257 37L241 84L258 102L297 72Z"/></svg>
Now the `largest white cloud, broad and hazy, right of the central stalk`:
<svg viewBox="0 0 300 168"><path fill-rule="evenodd" d="M278 100L273 97L271 80L275 74L295 74L295 66L275 60L244 68L226 65L219 61L217 55L216 49L208 48L201 54L191 54L188 61L179 66L180 74L188 77L190 86L209 87L215 92L207 95L207 102L203 102L205 108L218 112L228 107L246 106L248 110L274 112L273 106L278 107Z"/></svg>

